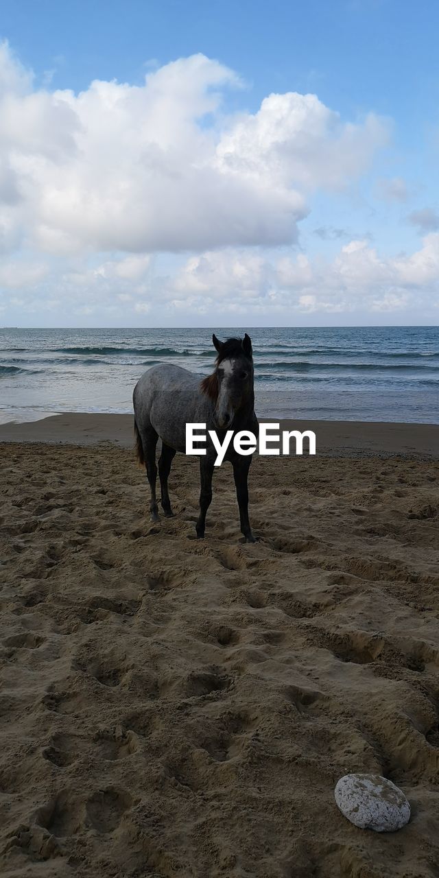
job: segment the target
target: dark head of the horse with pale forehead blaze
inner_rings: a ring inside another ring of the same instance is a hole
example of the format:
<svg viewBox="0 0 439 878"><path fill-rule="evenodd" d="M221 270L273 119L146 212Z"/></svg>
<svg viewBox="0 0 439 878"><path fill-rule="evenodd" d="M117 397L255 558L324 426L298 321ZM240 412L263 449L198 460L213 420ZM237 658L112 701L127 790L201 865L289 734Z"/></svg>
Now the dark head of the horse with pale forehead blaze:
<svg viewBox="0 0 439 878"><path fill-rule="evenodd" d="M251 339L246 333L243 339L228 338L226 342L219 342L213 334L212 342L218 353L215 371L204 378L201 389L215 403L215 427L227 429L240 409L254 405Z"/></svg>

